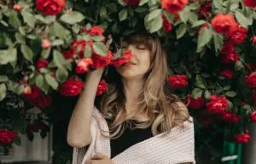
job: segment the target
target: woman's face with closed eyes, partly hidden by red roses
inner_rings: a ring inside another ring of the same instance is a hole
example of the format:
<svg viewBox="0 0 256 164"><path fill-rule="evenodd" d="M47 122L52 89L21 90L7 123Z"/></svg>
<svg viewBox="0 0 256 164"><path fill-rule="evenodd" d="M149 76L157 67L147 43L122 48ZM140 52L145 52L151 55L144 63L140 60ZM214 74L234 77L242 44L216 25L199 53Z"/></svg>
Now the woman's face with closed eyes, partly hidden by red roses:
<svg viewBox="0 0 256 164"><path fill-rule="evenodd" d="M151 64L150 50L143 43L121 42L121 48L123 52L131 50L131 60L125 65L120 65L116 70L125 79L143 78Z"/></svg>

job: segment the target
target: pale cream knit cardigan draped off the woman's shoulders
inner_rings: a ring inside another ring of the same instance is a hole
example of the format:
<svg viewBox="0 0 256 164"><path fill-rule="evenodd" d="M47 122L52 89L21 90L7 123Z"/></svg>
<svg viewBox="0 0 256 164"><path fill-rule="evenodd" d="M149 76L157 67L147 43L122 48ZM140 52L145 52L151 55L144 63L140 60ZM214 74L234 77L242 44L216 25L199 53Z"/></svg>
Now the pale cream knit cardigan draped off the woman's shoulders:
<svg viewBox="0 0 256 164"><path fill-rule="evenodd" d="M114 164L195 164L194 124L183 122L183 126L172 128L171 133L160 133L150 139L132 145L114 156ZM108 132L108 124L94 108L90 126L91 143L88 147L73 149L73 164L84 164L96 153L110 157L110 139L102 136L101 129Z"/></svg>

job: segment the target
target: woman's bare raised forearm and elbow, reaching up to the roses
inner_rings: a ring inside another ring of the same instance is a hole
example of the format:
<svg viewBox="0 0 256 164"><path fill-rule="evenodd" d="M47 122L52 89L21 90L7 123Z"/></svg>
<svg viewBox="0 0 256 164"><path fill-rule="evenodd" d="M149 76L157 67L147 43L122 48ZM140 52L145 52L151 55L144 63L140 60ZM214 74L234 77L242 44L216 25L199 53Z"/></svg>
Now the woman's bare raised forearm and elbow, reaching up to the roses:
<svg viewBox="0 0 256 164"><path fill-rule="evenodd" d="M67 143L73 147L81 148L90 144L92 110L103 71L104 68L100 68L89 72L85 77L84 91L75 105L67 128Z"/></svg>

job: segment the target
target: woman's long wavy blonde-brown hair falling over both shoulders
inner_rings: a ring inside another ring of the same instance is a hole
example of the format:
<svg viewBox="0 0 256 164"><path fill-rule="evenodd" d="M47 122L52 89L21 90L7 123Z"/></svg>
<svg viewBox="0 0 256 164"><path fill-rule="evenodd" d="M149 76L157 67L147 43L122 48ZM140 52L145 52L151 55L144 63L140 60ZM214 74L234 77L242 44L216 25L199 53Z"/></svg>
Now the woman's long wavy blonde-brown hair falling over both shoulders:
<svg viewBox="0 0 256 164"><path fill-rule="evenodd" d="M166 91L167 63L166 52L161 48L160 40L148 34L134 34L124 38L129 44L144 43L152 54L152 62L145 75L143 90L139 94L138 110L135 114L148 116L147 122L135 122L135 128L151 126L153 135L170 131L172 127L189 119L187 108L180 109L177 96ZM109 85L108 92L103 94L100 111L108 120L110 138L118 138L127 125L125 92L121 76L115 72L114 81Z"/></svg>

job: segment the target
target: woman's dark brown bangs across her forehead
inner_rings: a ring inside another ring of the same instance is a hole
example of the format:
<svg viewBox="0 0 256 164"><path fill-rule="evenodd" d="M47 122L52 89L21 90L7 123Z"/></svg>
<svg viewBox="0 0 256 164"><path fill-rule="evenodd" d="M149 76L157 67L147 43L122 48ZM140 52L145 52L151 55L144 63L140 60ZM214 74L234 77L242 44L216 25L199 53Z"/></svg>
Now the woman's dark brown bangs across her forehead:
<svg viewBox="0 0 256 164"><path fill-rule="evenodd" d="M129 37L123 37L122 40L128 44L144 44L146 48L148 48L151 52L154 52L154 37L150 36L150 34L133 34Z"/></svg>

